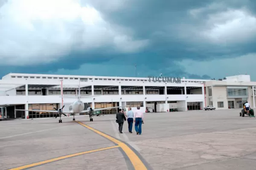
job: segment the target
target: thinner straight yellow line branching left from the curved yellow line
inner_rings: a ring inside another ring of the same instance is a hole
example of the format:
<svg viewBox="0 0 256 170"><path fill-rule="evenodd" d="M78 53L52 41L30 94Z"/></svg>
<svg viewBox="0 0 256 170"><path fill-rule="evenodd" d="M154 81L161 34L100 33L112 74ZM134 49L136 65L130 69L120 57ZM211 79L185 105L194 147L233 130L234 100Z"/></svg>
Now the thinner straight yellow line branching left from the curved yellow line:
<svg viewBox="0 0 256 170"><path fill-rule="evenodd" d="M37 162L37 163L33 163L33 164L24 165L24 166L21 166L21 167L15 167L15 168L12 168L12 169L9 169L9 170L23 170L23 169L26 169L26 168L29 168L29 167L35 167L35 166L38 166L38 165L41 165L41 164L47 164L47 163L50 163L50 162L53 162L53 161L59 161L61 159L71 158L71 157L74 157L74 156L84 155L84 154L87 154L87 153L93 153L93 152L98 152L98 151L102 151L102 150L113 149L113 148L116 148L116 147L120 147L120 146L104 147L104 148L100 148L100 149L88 150L88 151L80 152L80 153L74 153L74 154L70 154L70 155L67 155L67 156L61 156L61 157L54 158L54 159L48 159L46 161L41 161L41 162Z"/></svg>

